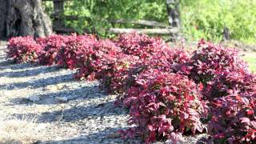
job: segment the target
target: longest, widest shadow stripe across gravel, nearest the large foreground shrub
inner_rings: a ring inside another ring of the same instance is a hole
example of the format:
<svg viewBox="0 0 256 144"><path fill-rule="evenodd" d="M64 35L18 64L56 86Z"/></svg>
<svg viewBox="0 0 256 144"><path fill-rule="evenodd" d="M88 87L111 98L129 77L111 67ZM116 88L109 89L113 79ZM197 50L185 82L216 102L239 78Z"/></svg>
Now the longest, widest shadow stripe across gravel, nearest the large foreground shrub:
<svg viewBox="0 0 256 144"><path fill-rule="evenodd" d="M64 109L65 107L63 107ZM114 106L114 101L103 102L95 106L73 106L66 110L57 110L53 112L46 112L42 114L13 114L16 118L38 118L38 123L46 122L78 122L85 118L102 118L102 116L122 115L126 111L122 108Z"/></svg>

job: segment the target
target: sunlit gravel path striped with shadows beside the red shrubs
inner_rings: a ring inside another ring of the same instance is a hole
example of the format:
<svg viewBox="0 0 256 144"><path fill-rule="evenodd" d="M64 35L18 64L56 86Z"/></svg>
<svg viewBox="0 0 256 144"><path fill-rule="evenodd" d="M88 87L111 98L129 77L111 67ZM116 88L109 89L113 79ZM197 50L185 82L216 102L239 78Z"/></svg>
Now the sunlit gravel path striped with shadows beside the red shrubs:
<svg viewBox="0 0 256 144"><path fill-rule="evenodd" d="M58 66L11 64L5 49L0 46L0 143L141 143L116 133L129 127L128 113L98 82L78 82L74 70Z"/></svg>

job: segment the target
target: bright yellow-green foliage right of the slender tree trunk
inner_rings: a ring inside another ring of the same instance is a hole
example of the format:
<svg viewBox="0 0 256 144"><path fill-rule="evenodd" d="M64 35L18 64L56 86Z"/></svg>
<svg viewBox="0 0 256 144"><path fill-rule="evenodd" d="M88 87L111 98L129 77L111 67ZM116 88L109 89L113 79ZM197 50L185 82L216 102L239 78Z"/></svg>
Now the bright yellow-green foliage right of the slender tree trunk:
<svg viewBox="0 0 256 144"><path fill-rule="evenodd" d="M182 31L192 39L219 42L226 26L230 38L256 42L256 0L184 0L181 11Z"/></svg>

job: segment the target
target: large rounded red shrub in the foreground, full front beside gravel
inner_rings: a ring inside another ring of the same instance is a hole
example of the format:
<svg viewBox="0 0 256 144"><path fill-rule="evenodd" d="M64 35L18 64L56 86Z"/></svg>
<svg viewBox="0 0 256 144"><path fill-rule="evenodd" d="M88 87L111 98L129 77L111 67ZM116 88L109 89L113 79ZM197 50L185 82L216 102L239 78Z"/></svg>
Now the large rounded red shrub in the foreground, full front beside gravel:
<svg viewBox="0 0 256 144"><path fill-rule="evenodd" d="M131 105L129 123L138 126L145 142L178 141L187 130L202 132L200 118L207 106L186 76L148 70L136 78L136 84L128 90L125 103Z"/></svg>

